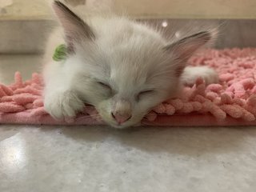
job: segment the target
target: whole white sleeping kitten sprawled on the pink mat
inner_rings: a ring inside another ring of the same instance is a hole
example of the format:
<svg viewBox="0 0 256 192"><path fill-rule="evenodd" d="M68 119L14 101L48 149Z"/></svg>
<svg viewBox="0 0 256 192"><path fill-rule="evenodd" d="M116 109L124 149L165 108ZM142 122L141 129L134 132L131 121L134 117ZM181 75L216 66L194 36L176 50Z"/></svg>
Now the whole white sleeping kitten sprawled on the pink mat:
<svg viewBox="0 0 256 192"><path fill-rule="evenodd" d="M53 8L62 27L46 48L44 102L54 118L74 117L86 102L110 126L133 126L176 96L183 83L194 84L200 76L207 83L218 81L210 68L186 67L212 38L208 31L169 44L158 31L127 18L94 17L89 24L61 2ZM54 49L63 43L67 57L54 62Z"/></svg>

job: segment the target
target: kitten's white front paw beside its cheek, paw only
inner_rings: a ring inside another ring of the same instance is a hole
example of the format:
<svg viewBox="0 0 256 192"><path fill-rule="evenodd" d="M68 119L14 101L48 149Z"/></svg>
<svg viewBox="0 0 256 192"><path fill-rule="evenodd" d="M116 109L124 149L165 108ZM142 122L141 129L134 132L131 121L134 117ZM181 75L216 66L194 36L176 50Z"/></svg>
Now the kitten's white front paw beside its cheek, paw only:
<svg viewBox="0 0 256 192"><path fill-rule="evenodd" d="M72 118L84 108L84 103L70 90L46 94L45 110L57 119Z"/></svg>

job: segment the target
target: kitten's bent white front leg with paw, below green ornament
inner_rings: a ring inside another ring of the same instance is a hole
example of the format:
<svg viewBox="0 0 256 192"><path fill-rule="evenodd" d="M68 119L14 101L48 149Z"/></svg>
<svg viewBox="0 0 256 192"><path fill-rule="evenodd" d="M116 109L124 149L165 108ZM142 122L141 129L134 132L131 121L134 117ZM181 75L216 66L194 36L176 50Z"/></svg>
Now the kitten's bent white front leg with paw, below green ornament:
<svg viewBox="0 0 256 192"><path fill-rule="evenodd" d="M46 74L45 79L44 107L52 117L74 117L83 110L84 103L66 76Z"/></svg>

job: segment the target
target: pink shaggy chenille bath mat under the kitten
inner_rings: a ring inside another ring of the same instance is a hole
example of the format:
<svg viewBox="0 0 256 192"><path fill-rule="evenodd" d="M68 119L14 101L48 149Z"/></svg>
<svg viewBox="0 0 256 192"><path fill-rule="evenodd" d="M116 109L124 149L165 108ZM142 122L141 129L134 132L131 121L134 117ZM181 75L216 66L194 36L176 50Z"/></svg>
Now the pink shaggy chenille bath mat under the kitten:
<svg viewBox="0 0 256 192"><path fill-rule="evenodd" d="M219 84L206 86L202 79L185 87L181 98L156 106L142 120L147 126L250 126L256 125L256 48L204 50L190 58L191 66L210 66ZM43 108L42 77L0 85L0 123L35 125L104 125L97 111L86 106L78 117L58 121Z"/></svg>

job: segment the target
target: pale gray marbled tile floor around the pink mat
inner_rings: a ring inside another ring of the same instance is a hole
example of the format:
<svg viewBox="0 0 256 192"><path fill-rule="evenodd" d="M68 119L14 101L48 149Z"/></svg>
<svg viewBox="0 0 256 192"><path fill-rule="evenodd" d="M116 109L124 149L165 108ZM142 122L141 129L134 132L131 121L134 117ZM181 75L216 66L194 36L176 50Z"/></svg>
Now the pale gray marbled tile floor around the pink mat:
<svg viewBox="0 0 256 192"><path fill-rule="evenodd" d="M38 61L1 55L1 82ZM1 192L255 190L255 127L0 126Z"/></svg>

